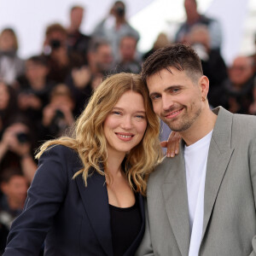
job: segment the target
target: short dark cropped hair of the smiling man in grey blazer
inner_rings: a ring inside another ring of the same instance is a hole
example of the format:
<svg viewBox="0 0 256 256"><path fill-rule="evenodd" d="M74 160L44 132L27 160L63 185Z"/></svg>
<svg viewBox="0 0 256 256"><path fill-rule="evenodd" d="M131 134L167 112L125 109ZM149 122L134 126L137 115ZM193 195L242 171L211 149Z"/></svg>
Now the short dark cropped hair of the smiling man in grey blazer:
<svg viewBox="0 0 256 256"><path fill-rule="evenodd" d="M185 71L193 82L198 81L203 75L201 59L194 49L184 44L169 44L157 49L143 63L141 73L143 81L146 82L149 76L160 72L162 69L172 73L172 67L179 71Z"/></svg>

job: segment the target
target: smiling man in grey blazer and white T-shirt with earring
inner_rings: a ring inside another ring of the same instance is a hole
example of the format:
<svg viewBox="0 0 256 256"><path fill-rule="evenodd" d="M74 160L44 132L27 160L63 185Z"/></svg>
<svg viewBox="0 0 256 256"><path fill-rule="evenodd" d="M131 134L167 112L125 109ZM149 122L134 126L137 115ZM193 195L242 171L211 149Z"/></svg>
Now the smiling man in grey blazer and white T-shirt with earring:
<svg viewBox="0 0 256 256"><path fill-rule="evenodd" d="M183 140L149 177L137 255L256 255L256 118L211 111L209 80L189 46L157 50L142 75L154 112Z"/></svg>

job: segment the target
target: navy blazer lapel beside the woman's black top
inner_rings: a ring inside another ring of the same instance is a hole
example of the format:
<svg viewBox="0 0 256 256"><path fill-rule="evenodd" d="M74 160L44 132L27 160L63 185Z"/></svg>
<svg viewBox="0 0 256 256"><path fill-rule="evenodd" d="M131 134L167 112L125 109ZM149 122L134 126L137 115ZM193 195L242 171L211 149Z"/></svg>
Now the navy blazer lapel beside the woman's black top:
<svg viewBox="0 0 256 256"><path fill-rule="evenodd" d="M113 247L106 179L95 171L88 177L87 187L85 187L81 175L76 177L75 180L84 203L84 209L87 212L97 239L107 255L112 256Z"/></svg>

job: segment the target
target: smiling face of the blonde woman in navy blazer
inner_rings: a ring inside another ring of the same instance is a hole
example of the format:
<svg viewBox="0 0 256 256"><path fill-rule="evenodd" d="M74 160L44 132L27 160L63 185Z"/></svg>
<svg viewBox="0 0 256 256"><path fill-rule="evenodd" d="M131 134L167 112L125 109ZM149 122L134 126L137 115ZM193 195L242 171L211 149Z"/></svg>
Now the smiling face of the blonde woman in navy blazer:
<svg viewBox="0 0 256 256"><path fill-rule="evenodd" d="M143 139L147 128L143 96L126 91L108 114L104 122L104 135L108 143L108 155L127 153Z"/></svg>

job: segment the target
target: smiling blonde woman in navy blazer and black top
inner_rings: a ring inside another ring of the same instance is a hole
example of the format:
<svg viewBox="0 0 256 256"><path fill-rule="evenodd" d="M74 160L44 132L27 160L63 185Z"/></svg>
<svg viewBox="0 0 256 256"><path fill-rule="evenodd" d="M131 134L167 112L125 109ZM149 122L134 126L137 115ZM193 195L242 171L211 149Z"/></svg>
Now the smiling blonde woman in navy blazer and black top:
<svg viewBox="0 0 256 256"><path fill-rule="evenodd" d="M139 75L96 89L73 137L44 143L4 256L133 255L143 238L148 174L161 159L159 119Z"/></svg>

